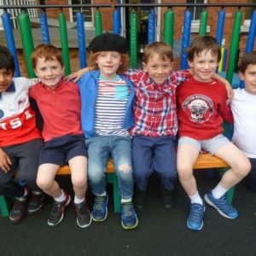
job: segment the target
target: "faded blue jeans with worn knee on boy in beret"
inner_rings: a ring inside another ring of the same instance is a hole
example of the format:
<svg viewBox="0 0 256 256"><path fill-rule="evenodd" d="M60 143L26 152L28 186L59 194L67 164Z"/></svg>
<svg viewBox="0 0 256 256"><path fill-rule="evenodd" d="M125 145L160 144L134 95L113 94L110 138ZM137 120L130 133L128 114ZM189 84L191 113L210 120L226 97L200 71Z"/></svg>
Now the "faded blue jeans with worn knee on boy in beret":
<svg viewBox="0 0 256 256"><path fill-rule="evenodd" d="M122 199L133 195L133 174L131 165L131 138L123 136L99 136L85 140L88 148L88 177L94 195L106 191L106 166L109 156L112 157L115 172L119 181L119 192Z"/></svg>

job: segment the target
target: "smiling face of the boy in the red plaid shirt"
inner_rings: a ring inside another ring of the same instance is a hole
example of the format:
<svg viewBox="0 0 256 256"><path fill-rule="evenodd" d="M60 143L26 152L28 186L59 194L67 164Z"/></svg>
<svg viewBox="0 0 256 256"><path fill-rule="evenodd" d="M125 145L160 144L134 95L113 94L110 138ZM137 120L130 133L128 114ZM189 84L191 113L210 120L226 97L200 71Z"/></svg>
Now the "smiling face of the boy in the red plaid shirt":
<svg viewBox="0 0 256 256"><path fill-rule="evenodd" d="M172 61L167 57L163 60L155 53L149 56L147 63L143 62L143 69L154 83L163 84L172 72Z"/></svg>

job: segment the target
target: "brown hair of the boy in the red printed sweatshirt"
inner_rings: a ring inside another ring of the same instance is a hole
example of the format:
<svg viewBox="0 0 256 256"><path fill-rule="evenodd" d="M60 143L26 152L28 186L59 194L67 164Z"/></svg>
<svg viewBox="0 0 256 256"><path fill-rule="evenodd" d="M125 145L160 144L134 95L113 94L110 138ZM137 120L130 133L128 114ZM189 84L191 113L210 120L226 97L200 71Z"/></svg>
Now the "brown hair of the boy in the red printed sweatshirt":
<svg viewBox="0 0 256 256"><path fill-rule="evenodd" d="M187 49L188 60L193 61L195 55L199 55L203 50L210 50L212 56L217 56L217 60L221 59L221 48L216 38L211 36L196 37L192 40L189 48Z"/></svg>

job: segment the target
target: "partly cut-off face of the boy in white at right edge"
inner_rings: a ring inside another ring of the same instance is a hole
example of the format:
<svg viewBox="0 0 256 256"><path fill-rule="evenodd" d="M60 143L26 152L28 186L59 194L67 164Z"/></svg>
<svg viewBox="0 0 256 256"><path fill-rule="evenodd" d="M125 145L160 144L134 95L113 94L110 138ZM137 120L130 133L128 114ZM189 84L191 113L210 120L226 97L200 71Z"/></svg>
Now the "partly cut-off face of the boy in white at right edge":
<svg viewBox="0 0 256 256"><path fill-rule="evenodd" d="M239 75L241 80L244 81L245 90L256 95L256 65L249 64L245 73L239 73Z"/></svg>

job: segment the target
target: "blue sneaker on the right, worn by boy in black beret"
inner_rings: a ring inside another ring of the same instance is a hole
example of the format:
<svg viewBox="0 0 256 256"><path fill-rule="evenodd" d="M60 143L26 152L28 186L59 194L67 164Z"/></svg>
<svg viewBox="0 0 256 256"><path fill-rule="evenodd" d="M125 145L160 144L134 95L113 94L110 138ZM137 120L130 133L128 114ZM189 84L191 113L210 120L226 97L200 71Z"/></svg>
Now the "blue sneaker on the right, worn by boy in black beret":
<svg viewBox="0 0 256 256"><path fill-rule="evenodd" d="M121 204L121 224L125 230L133 230L138 225L137 214L131 201Z"/></svg>

